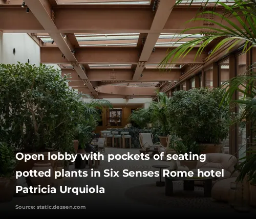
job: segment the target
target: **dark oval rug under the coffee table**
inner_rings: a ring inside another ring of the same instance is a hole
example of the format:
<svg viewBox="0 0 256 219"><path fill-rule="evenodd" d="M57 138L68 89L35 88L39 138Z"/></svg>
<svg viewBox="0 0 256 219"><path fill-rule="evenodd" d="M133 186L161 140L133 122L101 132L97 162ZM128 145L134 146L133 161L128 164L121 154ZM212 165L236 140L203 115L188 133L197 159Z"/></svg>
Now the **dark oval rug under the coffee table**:
<svg viewBox="0 0 256 219"><path fill-rule="evenodd" d="M147 184L132 187L125 191L125 197L134 201L159 207L175 209L208 209L208 210L231 210L227 204L217 202L212 198L203 197L203 187L195 187L194 191L183 191L183 182L173 182L174 196L165 196L165 187L157 187L156 184Z"/></svg>

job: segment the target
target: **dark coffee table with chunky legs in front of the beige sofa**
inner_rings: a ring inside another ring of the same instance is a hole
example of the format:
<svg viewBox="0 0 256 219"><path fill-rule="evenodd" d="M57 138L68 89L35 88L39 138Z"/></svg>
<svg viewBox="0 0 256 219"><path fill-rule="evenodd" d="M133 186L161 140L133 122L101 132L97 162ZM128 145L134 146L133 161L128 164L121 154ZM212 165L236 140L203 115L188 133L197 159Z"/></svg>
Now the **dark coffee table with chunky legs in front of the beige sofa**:
<svg viewBox="0 0 256 219"><path fill-rule="evenodd" d="M195 181L204 182L204 197L211 197L211 187L212 180L216 179L215 177L165 177L165 196L173 196L174 188L173 181L183 181L184 191L194 191Z"/></svg>

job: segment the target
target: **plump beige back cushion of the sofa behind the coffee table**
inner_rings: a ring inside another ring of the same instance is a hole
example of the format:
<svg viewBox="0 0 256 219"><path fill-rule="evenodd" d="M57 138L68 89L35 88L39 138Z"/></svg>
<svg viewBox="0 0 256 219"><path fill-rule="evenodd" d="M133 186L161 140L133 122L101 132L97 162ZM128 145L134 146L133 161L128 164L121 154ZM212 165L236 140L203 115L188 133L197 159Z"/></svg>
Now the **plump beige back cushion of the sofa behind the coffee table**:
<svg viewBox="0 0 256 219"><path fill-rule="evenodd" d="M236 164L237 158L230 154L210 153L206 154L205 162L198 161L197 168L225 169L232 173L234 171L234 165Z"/></svg>

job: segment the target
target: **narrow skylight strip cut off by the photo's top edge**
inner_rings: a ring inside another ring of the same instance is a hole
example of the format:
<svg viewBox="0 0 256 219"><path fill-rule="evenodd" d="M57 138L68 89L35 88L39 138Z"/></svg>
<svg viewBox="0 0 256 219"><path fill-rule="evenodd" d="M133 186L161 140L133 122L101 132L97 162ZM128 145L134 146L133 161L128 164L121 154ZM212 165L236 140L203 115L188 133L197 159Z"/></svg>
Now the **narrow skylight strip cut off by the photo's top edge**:
<svg viewBox="0 0 256 219"><path fill-rule="evenodd" d="M150 1L141 0L58 0L58 5L150 5Z"/></svg>

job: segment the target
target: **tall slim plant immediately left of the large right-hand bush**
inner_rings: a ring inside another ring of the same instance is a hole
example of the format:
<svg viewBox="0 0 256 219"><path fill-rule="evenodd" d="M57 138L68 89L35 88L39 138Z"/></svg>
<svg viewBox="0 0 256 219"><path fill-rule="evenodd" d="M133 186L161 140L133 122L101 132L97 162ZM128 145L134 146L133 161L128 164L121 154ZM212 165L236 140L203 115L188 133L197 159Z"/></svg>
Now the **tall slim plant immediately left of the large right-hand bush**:
<svg viewBox="0 0 256 219"><path fill-rule="evenodd" d="M168 96L165 93L157 93L158 101L152 101L150 104L151 118L153 125L158 130L158 138L163 147L167 147L166 137L169 134L167 116Z"/></svg>

